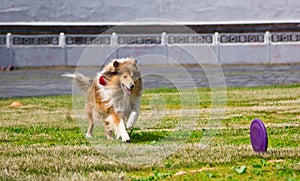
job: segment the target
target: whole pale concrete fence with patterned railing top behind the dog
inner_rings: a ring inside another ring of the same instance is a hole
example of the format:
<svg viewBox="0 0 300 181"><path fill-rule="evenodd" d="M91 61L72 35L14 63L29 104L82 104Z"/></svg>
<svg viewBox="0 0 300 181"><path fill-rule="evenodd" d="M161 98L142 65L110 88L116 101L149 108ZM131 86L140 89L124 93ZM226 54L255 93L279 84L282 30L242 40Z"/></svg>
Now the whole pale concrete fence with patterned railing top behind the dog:
<svg viewBox="0 0 300 181"><path fill-rule="evenodd" d="M99 66L141 57L141 64L300 63L300 33L0 35L0 66Z"/></svg>

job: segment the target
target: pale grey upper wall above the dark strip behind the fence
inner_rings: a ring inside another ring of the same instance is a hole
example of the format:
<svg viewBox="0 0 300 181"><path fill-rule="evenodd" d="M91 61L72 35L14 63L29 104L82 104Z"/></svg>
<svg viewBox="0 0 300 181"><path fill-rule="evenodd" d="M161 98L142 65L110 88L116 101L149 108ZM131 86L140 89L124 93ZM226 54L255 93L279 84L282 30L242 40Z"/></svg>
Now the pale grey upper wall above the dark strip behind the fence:
<svg viewBox="0 0 300 181"><path fill-rule="evenodd" d="M299 0L1 0L0 22L299 20Z"/></svg>

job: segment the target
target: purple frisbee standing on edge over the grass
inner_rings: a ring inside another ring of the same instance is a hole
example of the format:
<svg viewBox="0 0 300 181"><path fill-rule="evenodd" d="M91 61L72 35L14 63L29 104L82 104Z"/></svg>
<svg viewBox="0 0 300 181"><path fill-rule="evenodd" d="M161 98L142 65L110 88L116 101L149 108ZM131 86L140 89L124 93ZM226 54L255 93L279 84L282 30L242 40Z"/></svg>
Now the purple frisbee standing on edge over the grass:
<svg viewBox="0 0 300 181"><path fill-rule="evenodd" d="M251 145L255 152L266 152L268 148L268 134L264 123L254 119L250 126Z"/></svg>

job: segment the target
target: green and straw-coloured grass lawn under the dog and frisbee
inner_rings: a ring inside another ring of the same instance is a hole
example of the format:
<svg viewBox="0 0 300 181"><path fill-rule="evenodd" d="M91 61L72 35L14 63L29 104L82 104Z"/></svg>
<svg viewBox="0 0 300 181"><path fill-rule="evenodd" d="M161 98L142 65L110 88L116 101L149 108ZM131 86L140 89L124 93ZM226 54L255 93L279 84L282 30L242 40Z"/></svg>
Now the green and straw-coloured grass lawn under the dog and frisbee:
<svg viewBox="0 0 300 181"><path fill-rule="evenodd" d="M226 109L214 128L208 127L215 119L211 90L196 92L197 104L182 106L174 89L145 90L130 144L104 139L101 123L94 138L86 139L84 117L73 111L71 95L2 99L0 177L300 180L300 85L227 88ZM23 105L12 108L13 101ZM254 118L267 128L269 147L264 154L250 145Z"/></svg>

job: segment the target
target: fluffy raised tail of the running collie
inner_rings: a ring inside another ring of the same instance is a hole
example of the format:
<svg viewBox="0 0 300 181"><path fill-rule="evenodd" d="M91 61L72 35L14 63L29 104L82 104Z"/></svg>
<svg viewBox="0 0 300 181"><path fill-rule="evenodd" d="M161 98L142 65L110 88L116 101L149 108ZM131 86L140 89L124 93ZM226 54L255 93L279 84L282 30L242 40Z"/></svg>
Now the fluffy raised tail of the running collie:
<svg viewBox="0 0 300 181"><path fill-rule="evenodd" d="M89 87L92 84L92 79L82 75L81 73L67 73L62 75L63 77L73 78L75 84L84 92L87 93Z"/></svg>

